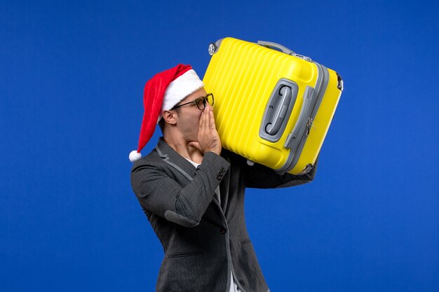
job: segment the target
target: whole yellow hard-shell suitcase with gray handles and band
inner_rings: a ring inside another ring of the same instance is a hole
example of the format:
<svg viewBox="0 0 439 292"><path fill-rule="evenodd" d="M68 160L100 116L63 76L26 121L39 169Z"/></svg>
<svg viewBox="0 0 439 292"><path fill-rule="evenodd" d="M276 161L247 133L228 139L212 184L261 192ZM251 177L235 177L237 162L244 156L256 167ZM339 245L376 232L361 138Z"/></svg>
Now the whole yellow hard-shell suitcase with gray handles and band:
<svg viewBox="0 0 439 292"><path fill-rule="evenodd" d="M276 43L211 43L203 82L222 146L279 173L313 164L343 90L342 78Z"/></svg>

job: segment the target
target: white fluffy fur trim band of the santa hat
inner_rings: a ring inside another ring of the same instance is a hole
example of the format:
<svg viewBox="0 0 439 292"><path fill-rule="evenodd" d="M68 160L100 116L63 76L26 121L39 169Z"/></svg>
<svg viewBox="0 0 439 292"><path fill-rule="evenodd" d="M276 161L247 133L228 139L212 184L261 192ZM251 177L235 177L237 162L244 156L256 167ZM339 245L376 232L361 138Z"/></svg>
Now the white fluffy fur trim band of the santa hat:
<svg viewBox="0 0 439 292"><path fill-rule="evenodd" d="M169 83L168 88L166 88L165 96L163 97L163 104L157 122L161 120L163 111L169 111L175 104L181 102L184 97L191 95L203 87L204 83L200 80L194 69L190 69L175 79L175 81Z"/></svg>

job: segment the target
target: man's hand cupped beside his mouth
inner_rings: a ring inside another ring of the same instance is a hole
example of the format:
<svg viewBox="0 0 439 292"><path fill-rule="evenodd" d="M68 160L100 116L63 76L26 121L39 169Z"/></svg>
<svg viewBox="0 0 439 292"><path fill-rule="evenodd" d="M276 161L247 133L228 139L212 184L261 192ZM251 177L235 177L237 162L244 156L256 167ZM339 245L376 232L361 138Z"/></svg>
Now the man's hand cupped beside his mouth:
<svg viewBox="0 0 439 292"><path fill-rule="evenodd" d="M215 127L215 118L213 117L213 109L206 106L201 113L198 123L198 141L189 142L189 146L197 148L201 153L205 154L209 151L221 154L221 140Z"/></svg>

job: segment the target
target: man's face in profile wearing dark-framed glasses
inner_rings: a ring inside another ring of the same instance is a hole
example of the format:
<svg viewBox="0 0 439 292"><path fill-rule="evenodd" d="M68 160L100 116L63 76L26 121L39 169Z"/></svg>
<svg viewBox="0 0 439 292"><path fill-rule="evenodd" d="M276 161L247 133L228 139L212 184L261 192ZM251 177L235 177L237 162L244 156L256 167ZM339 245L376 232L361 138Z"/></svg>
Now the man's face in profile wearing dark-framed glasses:
<svg viewBox="0 0 439 292"><path fill-rule="evenodd" d="M204 88L197 90L185 97L181 102L176 105L186 104L187 102L193 102L198 97L205 97L207 92ZM210 106L206 103L206 107ZM202 111L198 109L195 103L181 106L177 111L177 127L183 134L184 139L187 142L198 141L198 123L201 117Z"/></svg>

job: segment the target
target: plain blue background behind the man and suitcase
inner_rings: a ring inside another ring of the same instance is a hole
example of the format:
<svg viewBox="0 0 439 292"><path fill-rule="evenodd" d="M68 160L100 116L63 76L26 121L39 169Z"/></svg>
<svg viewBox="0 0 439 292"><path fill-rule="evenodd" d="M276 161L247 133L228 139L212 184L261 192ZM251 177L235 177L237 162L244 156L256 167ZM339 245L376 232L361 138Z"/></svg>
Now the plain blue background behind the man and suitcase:
<svg viewBox="0 0 439 292"><path fill-rule="evenodd" d="M144 83L225 36L345 90L313 183L248 190L271 291L439 291L435 1L0 1L0 290L154 291L130 186ZM148 153L160 135L157 130Z"/></svg>

